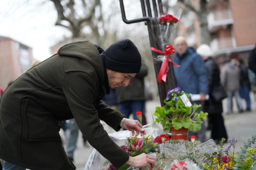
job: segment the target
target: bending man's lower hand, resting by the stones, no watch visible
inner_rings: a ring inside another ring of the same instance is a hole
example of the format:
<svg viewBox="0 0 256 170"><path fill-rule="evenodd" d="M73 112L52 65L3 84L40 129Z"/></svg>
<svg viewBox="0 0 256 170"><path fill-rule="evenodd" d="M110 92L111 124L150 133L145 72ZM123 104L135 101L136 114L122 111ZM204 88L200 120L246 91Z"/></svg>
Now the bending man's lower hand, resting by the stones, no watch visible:
<svg viewBox="0 0 256 170"><path fill-rule="evenodd" d="M126 162L127 164L135 167L135 168L141 168L147 166L150 170L155 166L155 162L153 160L152 156L149 156L145 153L140 154L135 157L129 157L129 160Z"/></svg>

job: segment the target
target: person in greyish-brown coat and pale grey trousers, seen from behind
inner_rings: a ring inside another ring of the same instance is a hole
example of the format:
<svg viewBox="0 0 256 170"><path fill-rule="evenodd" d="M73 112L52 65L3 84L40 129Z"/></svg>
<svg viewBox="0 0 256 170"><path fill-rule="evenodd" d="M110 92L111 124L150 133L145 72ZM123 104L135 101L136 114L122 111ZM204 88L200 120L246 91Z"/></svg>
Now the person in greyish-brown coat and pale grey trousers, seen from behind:
<svg viewBox="0 0 256 170"><path fill-rule="evenodd" d="M231 114L233 112L232 109L232 97L233 95L236 97L236 103L238 106L238 112L243 112L243 105L241 101L241 97L239 94L240 90L240 69L237 65L232 64L229 58L226 58L226 61L223 63L222 69L220 69L220 83L223 88L226 90L228 95L228 107L227 113Z"/></svg>

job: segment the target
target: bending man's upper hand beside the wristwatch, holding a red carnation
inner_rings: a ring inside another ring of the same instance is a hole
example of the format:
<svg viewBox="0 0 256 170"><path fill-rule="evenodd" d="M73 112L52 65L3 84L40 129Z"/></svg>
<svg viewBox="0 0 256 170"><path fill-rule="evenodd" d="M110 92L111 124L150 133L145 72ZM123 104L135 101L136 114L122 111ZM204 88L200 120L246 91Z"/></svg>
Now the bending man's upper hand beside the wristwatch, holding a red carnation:
<svg viewBox="0 0 256 170"><path fill-rule="evenodd" d="M141 136L143 136L143 133L144 135L146 135L146 131L145 129L141 128L141 123L139 122L139 120L125 118L125 120L123 121L123 128L131 131L132 135L134 135L134 131L136 131L136 136L138 136L140 132Z"/></svg>

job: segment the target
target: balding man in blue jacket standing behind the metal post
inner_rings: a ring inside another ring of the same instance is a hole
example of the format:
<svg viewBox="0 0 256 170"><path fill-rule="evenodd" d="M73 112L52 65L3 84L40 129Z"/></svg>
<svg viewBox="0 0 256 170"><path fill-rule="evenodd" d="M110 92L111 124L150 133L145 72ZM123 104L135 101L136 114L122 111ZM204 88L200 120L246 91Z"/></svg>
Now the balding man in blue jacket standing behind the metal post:
<svg viewBox="0 0 256 170"><path fill-rule="evenodd" d="M206 100L206 94L208 93L208 78L207 70L203 59L199 54L195 52L193 48L187 46L185 37L178 36L174 40L175 54L172 57L174 63L180 65L180 67L174 66L174 75L177 82L177 87L180 87L185 93L200 94L199 101L191 101L194 103L203 105L203 101ZM199 107L196 112L203 111L203 107ZM188 139L192 135L205 142L205 122L202 119L201 129L195 132L188 132Z"/></svg>

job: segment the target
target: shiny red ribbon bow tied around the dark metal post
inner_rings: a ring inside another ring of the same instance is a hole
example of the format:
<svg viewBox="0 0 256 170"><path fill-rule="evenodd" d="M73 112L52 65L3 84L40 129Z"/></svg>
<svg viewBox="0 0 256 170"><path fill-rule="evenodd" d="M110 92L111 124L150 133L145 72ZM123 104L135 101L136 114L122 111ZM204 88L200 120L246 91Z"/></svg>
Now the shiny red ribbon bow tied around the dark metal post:
<svg viewBox="0 0 256 170"><path fill-rule="evenodd" d="M164 82L166 82L166 75L167 75L167 69L168 69L168 61L170 61L170 63L172 63L172 65L176 66L176 67L179 67L180 65L177 65L175 64L172 59L169 58L169 56L171 54L174 54L175 51L174 51L174 47L169 44L167 46L165 46L165 52L162 52L154 47L151 47L150 50L152 51L155 51L155 52L158 52L158 53L161 53L161 54L164 54L164 61L162 63L162 66L160 68L160 71L158 73L158 76L157 76L157 81L159 83L161 83L161 80L163 80Z"/></svg>

